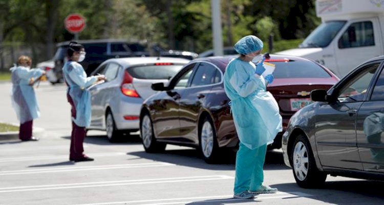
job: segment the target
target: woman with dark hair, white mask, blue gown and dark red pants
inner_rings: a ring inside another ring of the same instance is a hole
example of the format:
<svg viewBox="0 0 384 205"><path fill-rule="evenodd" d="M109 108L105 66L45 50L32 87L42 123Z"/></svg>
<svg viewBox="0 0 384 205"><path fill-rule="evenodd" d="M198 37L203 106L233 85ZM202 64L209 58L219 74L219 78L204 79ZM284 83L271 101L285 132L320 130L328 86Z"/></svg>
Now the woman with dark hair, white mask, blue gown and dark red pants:
<svg viewBox="0 0 384 205"><path fill-rule="evenodd" d="M83 154L83 141L86 136L86 127L91 123L91 96L88 87L104 75L87 77L83 67L78 63L84 60L86 52L81 44L71 42L67 54L69 60L63 66L62 72L68 86L67 99L71 104L72 134L69 159L71 161L93 161L94 159Z"/></svg>

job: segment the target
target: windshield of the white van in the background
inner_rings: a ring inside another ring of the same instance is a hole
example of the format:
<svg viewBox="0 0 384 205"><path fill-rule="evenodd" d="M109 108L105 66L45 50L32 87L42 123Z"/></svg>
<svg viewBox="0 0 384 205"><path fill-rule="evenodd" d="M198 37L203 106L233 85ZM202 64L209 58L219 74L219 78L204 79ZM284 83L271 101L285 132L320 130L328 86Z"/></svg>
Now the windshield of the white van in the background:
<svg viewBox="0 0 384 205"><path fill-rule="evenodd" d="M318 26L309 36L300 44L299 48L324 48L327 47L336 34L343 28L346 21L334 20L324 22Z"/></svg>

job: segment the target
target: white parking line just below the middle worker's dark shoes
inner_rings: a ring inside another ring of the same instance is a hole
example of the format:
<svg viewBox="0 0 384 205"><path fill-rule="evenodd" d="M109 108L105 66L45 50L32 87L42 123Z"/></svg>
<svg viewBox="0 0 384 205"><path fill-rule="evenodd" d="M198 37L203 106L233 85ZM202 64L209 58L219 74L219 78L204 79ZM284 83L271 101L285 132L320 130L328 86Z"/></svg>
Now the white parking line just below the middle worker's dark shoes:
<svg viewBox="0 0 384 205"><path fill-rule="evenodd" d="M146 168L146 167L163 167L163 166L175 166L175 164L166 163L166 162L152 162L152 163L134 163L134 164L122 164L122 165L83 166L83 167L71 167L71 168L10 170L10 171L1 171L0 175L38 174L38 173L55 173L55 172L73 172L73 171L84 171L84 170L109 170L109 169Z"/></svg>

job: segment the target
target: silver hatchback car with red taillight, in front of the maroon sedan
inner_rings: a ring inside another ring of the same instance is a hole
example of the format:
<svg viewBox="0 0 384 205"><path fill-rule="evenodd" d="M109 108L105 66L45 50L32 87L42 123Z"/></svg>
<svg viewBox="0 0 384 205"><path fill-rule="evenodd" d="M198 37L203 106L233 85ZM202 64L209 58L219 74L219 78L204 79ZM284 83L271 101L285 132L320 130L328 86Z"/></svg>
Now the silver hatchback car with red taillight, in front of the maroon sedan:
<svg viewBox="0 0 384 205"><path fill-rule="evenodd" d="M167 83L188 59L127 57L104 61L91 75L103 74L105 83L89 88L92 100L88 130L105 130L110 141L139 130L140 107L156 93L153 83Z"/></svg>

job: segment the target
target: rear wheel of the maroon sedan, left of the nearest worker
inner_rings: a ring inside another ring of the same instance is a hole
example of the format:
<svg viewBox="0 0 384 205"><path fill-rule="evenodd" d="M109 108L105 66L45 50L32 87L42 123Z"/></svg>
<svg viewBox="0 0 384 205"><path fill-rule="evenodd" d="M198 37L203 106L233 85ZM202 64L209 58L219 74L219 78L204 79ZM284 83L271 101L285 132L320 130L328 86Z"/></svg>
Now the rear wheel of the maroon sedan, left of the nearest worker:
<svg viewBox="0 0 384 205"><path fill-rule="evenodd" d="M205 116L199 125L199 148L205 162L218 162L220 150L215 127L209 116Z"/></svg>

